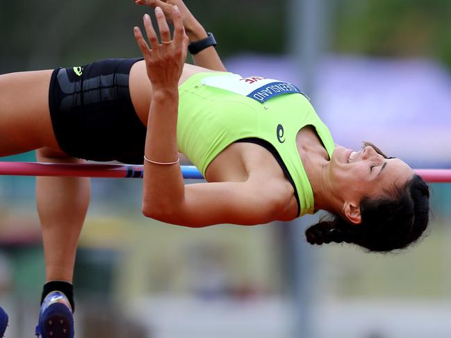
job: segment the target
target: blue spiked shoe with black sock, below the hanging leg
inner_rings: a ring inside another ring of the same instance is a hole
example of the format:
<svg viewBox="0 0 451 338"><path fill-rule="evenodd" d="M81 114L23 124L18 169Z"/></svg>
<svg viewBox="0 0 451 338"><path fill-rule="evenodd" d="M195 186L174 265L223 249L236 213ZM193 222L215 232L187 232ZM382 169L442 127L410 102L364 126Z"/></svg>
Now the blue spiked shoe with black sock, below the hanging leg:
<svg viewBox="0 0 451 338"><path fill-rule="evenodd" d="M63 292L50 292L42 302L36 326L39 338L74 338L72 307Z"/></svg>

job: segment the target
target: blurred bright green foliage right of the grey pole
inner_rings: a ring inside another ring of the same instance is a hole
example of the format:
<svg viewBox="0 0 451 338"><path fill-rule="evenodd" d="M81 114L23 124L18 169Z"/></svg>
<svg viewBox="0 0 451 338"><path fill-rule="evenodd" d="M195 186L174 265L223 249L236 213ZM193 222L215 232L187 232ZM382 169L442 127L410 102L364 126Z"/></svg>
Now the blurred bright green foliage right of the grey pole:
<svg viewBox="0 0 451 338"><path fill-rule="evenodd" d="M427 56L451 67L451 1L341 0L336 51L371 56Z"/></svg>

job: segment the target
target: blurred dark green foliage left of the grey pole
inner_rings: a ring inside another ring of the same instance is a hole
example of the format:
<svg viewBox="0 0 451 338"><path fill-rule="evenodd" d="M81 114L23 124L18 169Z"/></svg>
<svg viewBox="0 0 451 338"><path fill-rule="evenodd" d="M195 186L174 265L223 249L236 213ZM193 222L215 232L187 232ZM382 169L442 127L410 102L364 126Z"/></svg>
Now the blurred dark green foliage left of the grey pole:
<svg viewBox="0 0 451 338"><path fill-rule="evenodd" d="M215 34L222 56L240 51L283 51L284 6L279 3L186 3L206 29ZM133 26L142 26L142 15L150 10L136 6L132 0L1 1L0 73L140 56Z"/></svg>

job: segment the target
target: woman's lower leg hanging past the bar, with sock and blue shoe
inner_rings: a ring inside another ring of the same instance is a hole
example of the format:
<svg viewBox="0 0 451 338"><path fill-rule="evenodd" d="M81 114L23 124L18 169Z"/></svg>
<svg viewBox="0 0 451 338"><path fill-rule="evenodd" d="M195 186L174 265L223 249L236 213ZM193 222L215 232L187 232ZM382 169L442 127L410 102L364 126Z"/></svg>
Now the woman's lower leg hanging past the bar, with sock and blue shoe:
<svg viewBox="0 0 451 338"><path fill-rule="evenodd" d="M47 148L36 153L40 162L82 162ZM47 279L36 326L38 337L74 337L72 278L76 246L88 211L89 198L89 178L36 178L36 202Z"/></svg>

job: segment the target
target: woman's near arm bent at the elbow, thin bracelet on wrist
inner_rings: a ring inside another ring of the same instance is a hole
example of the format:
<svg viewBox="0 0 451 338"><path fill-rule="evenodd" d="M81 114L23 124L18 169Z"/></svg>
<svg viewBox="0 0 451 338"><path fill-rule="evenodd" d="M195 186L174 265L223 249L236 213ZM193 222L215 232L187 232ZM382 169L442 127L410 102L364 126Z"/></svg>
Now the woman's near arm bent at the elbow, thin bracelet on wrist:
<svg viewBox="0 0 451 338"><path fill-rule="evenodd" d="M280 219L286 201L274 180L249 176L243 183L202 183L185 187L177 152L178 83L186 58L188 37L181 13L174 7L174 37L160 8L156 19L161 43L145 15L150 47L139 28L134 28L152 83L147 122L142 213L147 217L182 226L218 223L259 224ZM274 183L274 184L273 184ZM279 192L278 192L279 191Z"/></svg>

